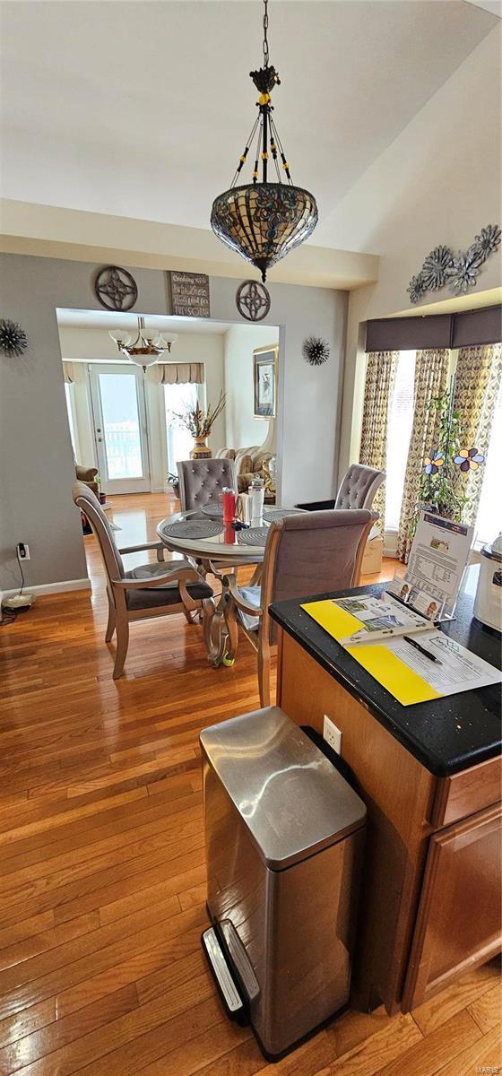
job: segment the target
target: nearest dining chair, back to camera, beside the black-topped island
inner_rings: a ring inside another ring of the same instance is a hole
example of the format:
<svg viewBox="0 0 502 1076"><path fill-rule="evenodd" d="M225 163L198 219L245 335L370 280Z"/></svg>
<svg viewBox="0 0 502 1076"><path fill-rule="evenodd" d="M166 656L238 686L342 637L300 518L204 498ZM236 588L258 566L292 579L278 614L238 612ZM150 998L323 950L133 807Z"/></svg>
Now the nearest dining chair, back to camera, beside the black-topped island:
<svg viewBox="0 0 502 1076"><path fill-rule="evenodd" d="M228 656L231 659L236 650L240 628L258 654L261 706L270 706L271 653L276 646L276 626L269 606L286 598L358 586L374 519L369 509L286 515L270 527L261 585L239 586L235 576L226 577Z"/></svg>

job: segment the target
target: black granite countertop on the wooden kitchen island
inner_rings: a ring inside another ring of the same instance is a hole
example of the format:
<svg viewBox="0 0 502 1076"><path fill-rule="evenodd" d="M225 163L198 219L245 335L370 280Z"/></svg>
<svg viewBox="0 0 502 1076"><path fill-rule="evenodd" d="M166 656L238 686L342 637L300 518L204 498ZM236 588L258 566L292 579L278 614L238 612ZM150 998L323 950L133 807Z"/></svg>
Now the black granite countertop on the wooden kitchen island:
<svg viewBox="0 0 502 1076"><path fill-rule="evenodd" d="M500 668L500 636L472 619L478 570L474 566L469 568L465 590L458 599L456 619L447 625L443 624L441 629ZM270 613L435 777L458 774L500 754L500 684L448 695L430 703L402 706L301 608L305 601L347 594L379 594L384 590L385 583L377 583L352 591L316 594L301 601L293 598L272 605ZM335 714L333 717L335 719Z"/></svg>

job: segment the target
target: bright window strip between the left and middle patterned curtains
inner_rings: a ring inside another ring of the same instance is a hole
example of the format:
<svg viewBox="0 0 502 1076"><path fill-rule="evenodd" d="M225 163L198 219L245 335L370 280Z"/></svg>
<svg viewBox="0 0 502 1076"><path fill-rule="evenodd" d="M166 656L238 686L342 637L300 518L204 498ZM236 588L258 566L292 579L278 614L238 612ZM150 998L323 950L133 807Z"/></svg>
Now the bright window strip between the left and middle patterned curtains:
<svg viewBox="0 0 502 1076"><path fill-rule="evenodd" d="M414 351L400 351L393 391L387 415L387 456L385 469L385 528L397 530L403 499L410 438L412 436L415 383Z"/></svg>

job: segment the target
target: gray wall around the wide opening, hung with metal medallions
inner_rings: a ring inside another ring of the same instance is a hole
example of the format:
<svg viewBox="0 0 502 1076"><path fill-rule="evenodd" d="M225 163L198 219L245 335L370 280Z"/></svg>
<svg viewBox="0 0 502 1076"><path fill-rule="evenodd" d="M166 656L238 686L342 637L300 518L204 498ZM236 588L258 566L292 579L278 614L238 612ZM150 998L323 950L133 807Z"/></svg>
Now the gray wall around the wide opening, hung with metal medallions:
<svg viewBox="0 0 502 1076"><path fill-rule="evenodd" d="M73 454L67 422L56 308L102 309L92 292L99 267L24 255L0 255L2 316L21 324L30 346L21 358L0 355L0 590L18 584L15 546L26 541L28 585L87 575L80 519L70 490ZM133 269L135 310L169 313L166 273ZM211 280L211 312L239 321L236 283ZM283 444L284 504L331 494L335 484L347 296L329 288L270 285L271 313L281 325L277 444ZM302 358L305 336L326 338L329 362ZM249 357L250 360L250 357Z"/></svg>

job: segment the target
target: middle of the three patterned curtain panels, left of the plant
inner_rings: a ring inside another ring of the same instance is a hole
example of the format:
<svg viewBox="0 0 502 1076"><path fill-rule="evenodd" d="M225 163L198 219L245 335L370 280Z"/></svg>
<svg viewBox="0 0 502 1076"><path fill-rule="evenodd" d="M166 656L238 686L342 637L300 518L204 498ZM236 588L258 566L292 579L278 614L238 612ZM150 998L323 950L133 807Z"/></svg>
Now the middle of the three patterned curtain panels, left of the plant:
<svg viewBox="0 0 502 1076"><path fill-rule="evenodd" d="M434 396L441 396L447 387L448 365L449 351L417 351L414 417L398 530L398 556L405 564L412 548L411 526L418 502L424 459L434 449L439 431L439 416L429 405Z"/></svg>

